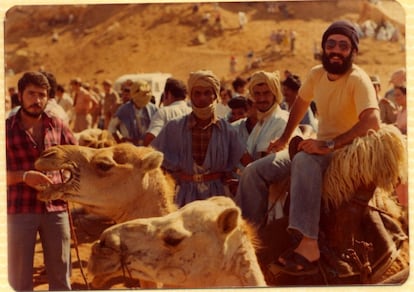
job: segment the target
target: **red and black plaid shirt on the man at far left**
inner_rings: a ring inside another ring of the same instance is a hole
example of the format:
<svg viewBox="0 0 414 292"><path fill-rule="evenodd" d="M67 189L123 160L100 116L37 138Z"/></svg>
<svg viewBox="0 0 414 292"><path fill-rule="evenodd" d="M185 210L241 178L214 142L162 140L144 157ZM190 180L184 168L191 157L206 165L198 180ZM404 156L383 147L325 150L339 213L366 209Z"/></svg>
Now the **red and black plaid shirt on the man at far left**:
<svg viewBox="0 0 414 292"><path fill-rule="evenodd" d="M7 171L26 171L34 169L34 163L43 150L55 145L77 144L76 139L60 119L43 114L44 141L37 145L31 135L22 127L20 110L6 120L6 158ZM58 171L48 173L54 183L61 182ZM36 213L66 210L62 200L42 202L36 199L37 191L25 183L7 187L7 213Z"/></svg>

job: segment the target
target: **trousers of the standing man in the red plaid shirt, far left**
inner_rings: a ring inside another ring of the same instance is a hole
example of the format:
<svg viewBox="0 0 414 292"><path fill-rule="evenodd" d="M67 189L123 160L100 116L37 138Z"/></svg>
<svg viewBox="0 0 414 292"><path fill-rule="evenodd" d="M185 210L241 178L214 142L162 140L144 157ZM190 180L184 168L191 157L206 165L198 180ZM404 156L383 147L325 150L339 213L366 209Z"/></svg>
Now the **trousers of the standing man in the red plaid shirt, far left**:
<svg viewBox="0 0 414 292"><path fill-rule="evenodd" d="M33 262L39 232L49 290L70 290L70 227L67 212L7 216L9 283L33 290Z"/></svg>

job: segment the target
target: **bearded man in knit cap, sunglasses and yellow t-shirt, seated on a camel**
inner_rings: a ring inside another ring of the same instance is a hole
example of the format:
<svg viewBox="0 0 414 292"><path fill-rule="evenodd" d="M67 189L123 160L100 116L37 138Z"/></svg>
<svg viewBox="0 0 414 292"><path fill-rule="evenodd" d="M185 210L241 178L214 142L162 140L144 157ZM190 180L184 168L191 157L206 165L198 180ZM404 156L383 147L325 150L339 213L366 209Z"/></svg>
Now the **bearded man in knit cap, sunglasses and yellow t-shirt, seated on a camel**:
<svg viewBox="0 0 414 292"><path fill-rule="evenodd" d="M243 216L259 225L267 210L268 186L290 174L288 231L298 235L299 244L282 253L275 264L291 275L318 272L323 174L334 151L380 127L374 87L353 64L358 43L357 30L348 21L327 28L321 42L322 65L311 69L299 89L283 134L269 145L274 154L248 165L240 180L236 200ZM301 141L291 161L286 147L312 100L319 112L317 137Z"/></svg>

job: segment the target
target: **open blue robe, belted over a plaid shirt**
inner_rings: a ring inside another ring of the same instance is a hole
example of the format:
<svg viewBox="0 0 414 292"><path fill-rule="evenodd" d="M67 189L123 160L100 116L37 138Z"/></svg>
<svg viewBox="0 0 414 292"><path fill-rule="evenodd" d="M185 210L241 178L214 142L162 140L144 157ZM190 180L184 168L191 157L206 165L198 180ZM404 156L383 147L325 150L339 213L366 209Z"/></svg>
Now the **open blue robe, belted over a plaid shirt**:
<svg viewBox="0 0 414 292"><path fill-rule="evenodd" d="M192 135L188 126L190 115L172 120L153 140L151 146L164 153L163 167L170 172L205 174L231 172L239 163L245 146L240 142L237 131L225 120L212 125L213 131L203 165L197 167L192 153ZM220 179L202 183L181 181L176 203L182 207L195 200L224 195Z"/></svg>

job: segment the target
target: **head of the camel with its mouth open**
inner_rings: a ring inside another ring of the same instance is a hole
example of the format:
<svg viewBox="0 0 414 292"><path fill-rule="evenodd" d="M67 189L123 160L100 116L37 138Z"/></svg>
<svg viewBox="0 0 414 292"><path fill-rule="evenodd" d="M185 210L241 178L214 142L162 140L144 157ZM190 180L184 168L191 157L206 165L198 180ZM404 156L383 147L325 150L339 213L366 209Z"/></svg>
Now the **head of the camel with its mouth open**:
<svg viewBox="0 0 414 292"><path fill-rule="evenodd" d="M128 143L100 149L54 146L38 158L35 168L59 170L63 183L48 186L38 198L75 202L117 222L163 215L169 211L160 211L160 206L165 197L172 202L174 187L160 168L162 160L161 152Z"/></svg>

